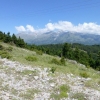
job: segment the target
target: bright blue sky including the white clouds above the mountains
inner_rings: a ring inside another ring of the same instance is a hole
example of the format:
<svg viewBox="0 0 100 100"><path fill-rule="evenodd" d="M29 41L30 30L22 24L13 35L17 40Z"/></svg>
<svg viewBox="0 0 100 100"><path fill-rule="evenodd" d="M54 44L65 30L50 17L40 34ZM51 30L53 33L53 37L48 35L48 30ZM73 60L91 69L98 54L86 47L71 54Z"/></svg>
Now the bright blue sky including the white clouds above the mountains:
<svg viewBox="0 0 100 100"><path fill-rule="evenodd" d="M0 0L0 31L100 34L100 0Z"/></svg>

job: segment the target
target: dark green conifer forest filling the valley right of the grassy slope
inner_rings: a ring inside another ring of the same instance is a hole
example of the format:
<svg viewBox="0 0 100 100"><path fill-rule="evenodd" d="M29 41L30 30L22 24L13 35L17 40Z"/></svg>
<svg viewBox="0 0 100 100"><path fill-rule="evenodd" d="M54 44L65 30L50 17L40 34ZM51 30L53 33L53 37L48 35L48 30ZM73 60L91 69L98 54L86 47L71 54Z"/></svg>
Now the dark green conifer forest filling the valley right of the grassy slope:
<svg viewBox="0 0 100 100"><path fill-rule="evenodd" d="M100 45L50 44L40 45L39 50L50 55L76 60L77 62L100 70Z"/></svg>

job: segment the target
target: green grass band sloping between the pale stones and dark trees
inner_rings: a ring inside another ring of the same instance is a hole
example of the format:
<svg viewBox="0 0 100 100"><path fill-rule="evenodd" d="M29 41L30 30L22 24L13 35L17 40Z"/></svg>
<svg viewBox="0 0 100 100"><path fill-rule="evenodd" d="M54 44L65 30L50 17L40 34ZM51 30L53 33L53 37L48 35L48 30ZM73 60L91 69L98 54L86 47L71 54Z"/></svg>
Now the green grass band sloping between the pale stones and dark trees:
<svg viewBox="0 0 100 100"><path fill-rule="evenodd" d="M31 65L32 67L34 66L41 66L41 68L47 67L47 68L56 68L55 74L56 72L60 73L72 73L74 74L74 76L81 76L84 78L91 78L91 82L89 82L89 86L91 87L90 84L92 84L92 82L95 84L100 84L100 73L97 73L97 71L95 71L92 68L83 68L81 66L79 66L78 64L72 64L70 62L68 62L67 60L65 60L65 65L58 65L55 63L50 63L51 61L53 61L53 59L56 59L56 61L60 61L61 58L60 57L55 57L55 56L50 56L47 54L38 54L35 51L29 51L27 49L22 49L22 48L18 48L9 44L5 44L5 43L0 43L1 45L3 45L5 48L9 48L12 49L12 51L9 52L9 55L12 56L12 58L10 58L13 61L18 61L21 64L24 65ZM8 50L9 50L8 49ZM25 58L28 56L32 56L32 57L36 57L36 61L27 61ZM55 62L56 62L55 61ZM2 63L2 62L0 62ZM58 62L57 62L58 63ZM23 72L23 74L29 74L31 73L29 72ZM86 83L88 84L88 83ZM88 86L88 85L87 85Z"/></svg>

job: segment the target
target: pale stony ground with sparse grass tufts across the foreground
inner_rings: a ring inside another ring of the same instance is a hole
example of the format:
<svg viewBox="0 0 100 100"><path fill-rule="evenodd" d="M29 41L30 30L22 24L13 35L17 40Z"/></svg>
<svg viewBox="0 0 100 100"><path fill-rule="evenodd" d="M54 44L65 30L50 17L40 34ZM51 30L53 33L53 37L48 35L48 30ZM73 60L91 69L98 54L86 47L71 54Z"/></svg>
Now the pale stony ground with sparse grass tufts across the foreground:
<svg viewBox="0 0 100 100"><path fill-rule="evenodd" d="M0 58L0 100L100 100L100 91L85 86L88 80ZM63 84L69 87L68 97L57 99Z"/></svg>

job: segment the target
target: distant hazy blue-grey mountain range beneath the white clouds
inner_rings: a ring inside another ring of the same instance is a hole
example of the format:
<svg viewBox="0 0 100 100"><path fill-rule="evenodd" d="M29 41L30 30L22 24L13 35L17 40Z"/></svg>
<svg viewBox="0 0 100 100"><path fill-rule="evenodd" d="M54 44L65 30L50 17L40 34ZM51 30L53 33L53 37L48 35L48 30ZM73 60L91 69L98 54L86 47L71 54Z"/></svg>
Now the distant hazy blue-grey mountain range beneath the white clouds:
<svg viewBox="0 0 100 100"><path fill-rule="evenodd" d="M87 45L100 44L100 35L77 33L77 32L47 32L47 33L18 33L29 44L58 44L58 43L81 43Z"/></svg>

